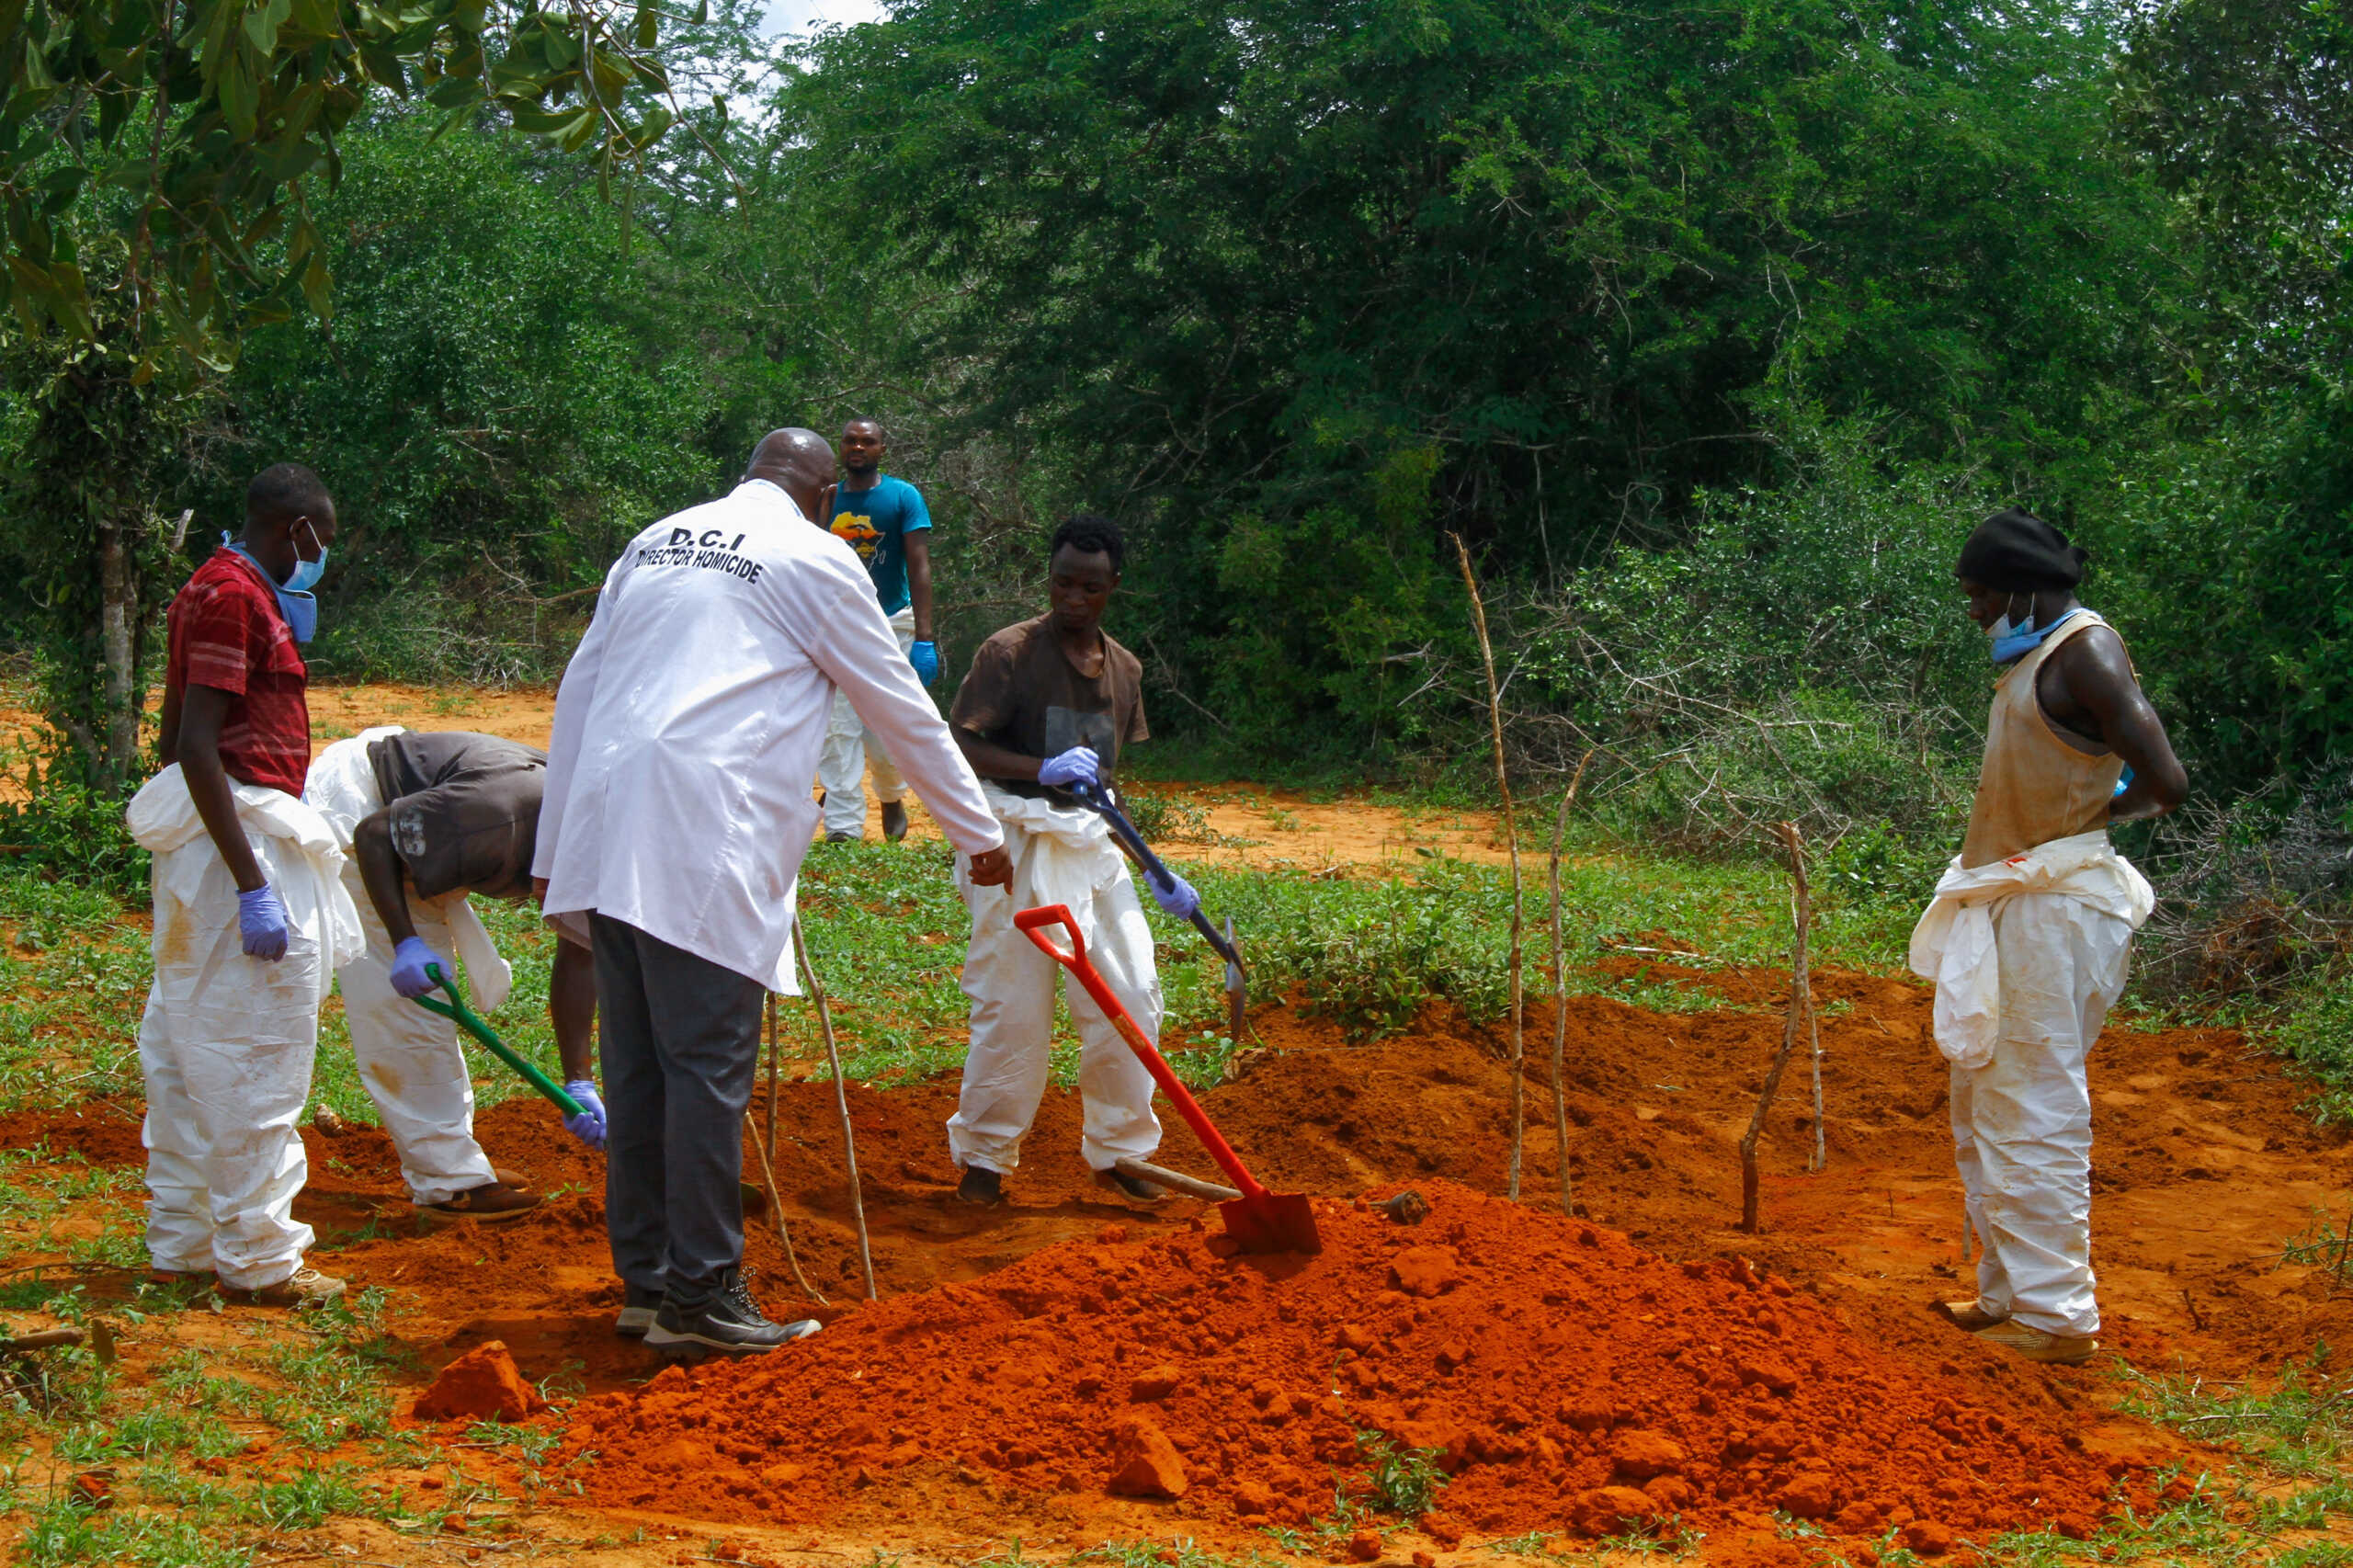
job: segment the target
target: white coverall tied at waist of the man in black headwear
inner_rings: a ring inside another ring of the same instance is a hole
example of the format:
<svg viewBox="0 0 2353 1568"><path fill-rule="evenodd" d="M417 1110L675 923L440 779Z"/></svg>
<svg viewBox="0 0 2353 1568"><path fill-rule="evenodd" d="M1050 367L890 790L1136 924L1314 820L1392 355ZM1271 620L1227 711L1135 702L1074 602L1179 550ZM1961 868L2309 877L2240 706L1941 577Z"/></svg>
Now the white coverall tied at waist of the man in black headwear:
<svg viewBox="0 0 2353 1568"><path fill-rule="evenodd" d="M2153 904L2106 833L2078 833L1977 869L1955 857L1913 928L1911 968L1937 982L1953 1064L1977 1302L2047 1335L2099 1333L2085 1055Z"/></svg>

